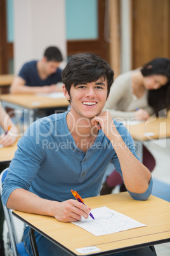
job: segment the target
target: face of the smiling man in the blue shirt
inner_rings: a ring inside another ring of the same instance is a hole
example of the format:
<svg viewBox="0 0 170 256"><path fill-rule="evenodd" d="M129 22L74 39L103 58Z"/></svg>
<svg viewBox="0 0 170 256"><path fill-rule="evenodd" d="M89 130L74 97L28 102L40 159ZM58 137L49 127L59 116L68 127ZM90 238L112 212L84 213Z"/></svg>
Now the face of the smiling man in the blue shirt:
<svg viewBox="0 0 170 256"><path fill-rule="evenodd" d="M71 113L79 117L95 117L105 106L107 91L107 80L103 77L96 82L72 85L70 88Z"/></svg>

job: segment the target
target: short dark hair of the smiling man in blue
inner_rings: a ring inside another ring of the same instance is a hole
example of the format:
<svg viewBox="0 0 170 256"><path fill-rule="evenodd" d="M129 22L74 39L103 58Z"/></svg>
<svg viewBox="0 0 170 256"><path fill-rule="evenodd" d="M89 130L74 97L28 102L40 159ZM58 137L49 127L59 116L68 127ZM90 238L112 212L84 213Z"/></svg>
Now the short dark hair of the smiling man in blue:
<svg viewBox="0 0 170 256"><path fill-rule="evenodd" d="M69 95L71 85L95 82L101 76L107 79L108 96L110 87L114 82L114 71L105 60L93 53L77 53L73 55L62 71L62 81Z"/></svg>

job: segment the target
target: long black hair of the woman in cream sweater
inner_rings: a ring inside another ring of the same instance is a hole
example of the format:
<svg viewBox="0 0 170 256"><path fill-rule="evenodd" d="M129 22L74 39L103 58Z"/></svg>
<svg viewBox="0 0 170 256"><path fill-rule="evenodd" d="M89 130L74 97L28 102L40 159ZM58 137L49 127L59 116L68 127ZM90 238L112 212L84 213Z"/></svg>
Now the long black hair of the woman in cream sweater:
<svg viewBox="0 0 170 256"><path fill-rule="evenodd" d="M162 75L166 76L168 82L157 90L148 91L148 104L154 108L158 116L160 110L170 109L170 59L155 58L145 64L141 69L143 76Z"/></svg>

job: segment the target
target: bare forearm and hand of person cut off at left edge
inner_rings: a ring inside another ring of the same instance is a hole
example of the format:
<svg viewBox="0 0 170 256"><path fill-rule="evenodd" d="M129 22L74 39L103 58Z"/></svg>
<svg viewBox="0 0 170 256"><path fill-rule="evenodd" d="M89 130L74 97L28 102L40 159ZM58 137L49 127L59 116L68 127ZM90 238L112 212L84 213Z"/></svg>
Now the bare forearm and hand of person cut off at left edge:
<svg viewBox="0 0 170 256"><path fill-rule="evenodd" d="M4 132L8 131L8 127L11 126L8 134L1 134L0 144L3 146L12 146L16 138L18 137L18 129L15 124L13 124L8 113L4 110L3 106L0 105L0 126L3 128Z"/></svg>

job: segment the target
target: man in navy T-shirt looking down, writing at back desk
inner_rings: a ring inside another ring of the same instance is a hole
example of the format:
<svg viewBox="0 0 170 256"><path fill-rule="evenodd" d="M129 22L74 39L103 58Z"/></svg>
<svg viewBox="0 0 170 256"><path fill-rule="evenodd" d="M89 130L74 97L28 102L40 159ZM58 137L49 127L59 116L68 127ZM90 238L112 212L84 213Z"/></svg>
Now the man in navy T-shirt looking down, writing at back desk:
<svg viewBox="0 0 170 256"><path fill-rule="evenodd" d="M56 83L62 82L62 69L59 68L62 61L60 50L56 46L49 46L41 60L32 60L23 65L11 84L11 93L61 92L62 87Z"/></svg>

